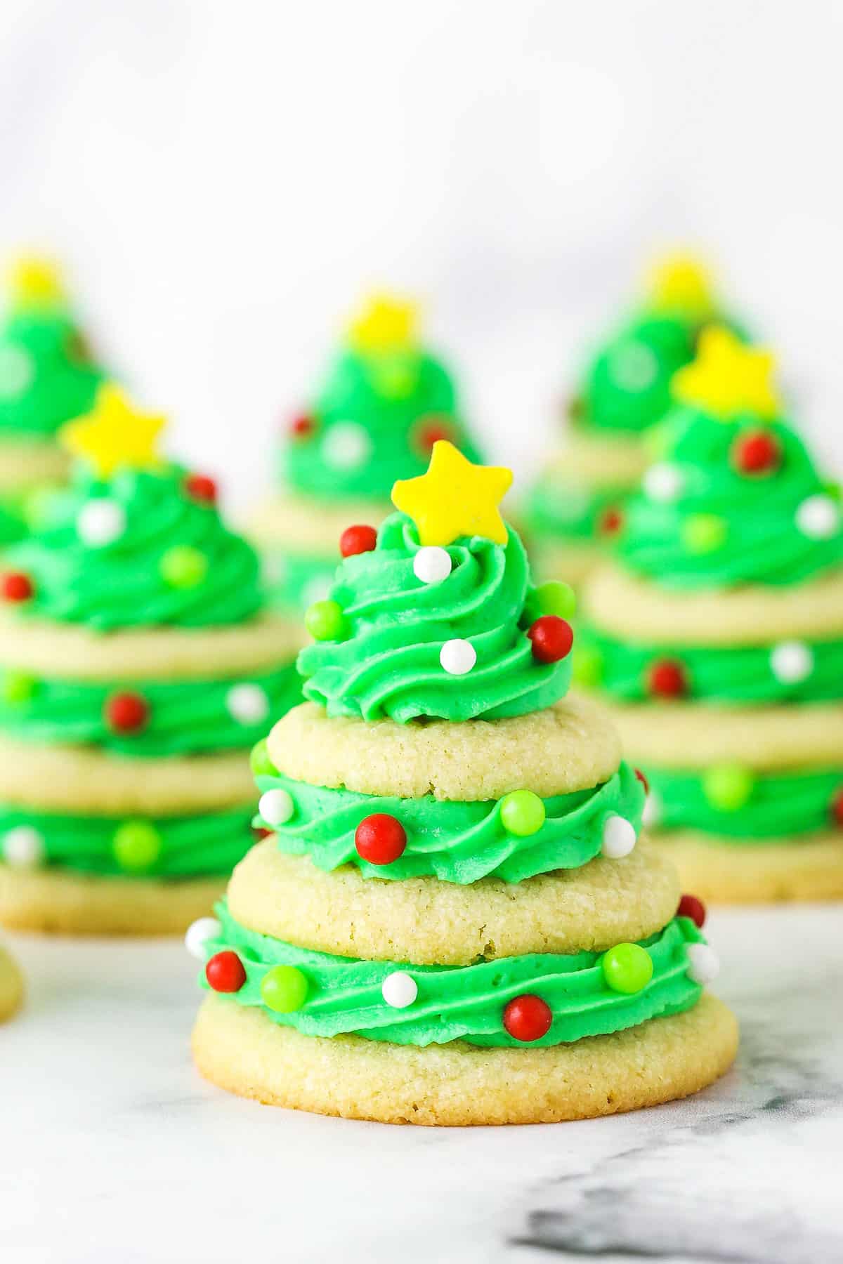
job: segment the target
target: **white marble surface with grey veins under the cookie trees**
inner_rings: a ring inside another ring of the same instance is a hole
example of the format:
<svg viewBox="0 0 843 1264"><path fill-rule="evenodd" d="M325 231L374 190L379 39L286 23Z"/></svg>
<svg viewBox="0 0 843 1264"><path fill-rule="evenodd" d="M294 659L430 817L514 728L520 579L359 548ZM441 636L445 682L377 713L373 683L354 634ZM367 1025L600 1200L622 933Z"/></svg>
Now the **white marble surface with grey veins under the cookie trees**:
<svg viewBox="0 0 843 1264"><path fill-rule="evenodd" d="M0 1259L843 1259L839 906L729 911L709 934L738 1066L688 1101L541 1127L387 1127L203 1083L176 943L8 937Z"/></svg>

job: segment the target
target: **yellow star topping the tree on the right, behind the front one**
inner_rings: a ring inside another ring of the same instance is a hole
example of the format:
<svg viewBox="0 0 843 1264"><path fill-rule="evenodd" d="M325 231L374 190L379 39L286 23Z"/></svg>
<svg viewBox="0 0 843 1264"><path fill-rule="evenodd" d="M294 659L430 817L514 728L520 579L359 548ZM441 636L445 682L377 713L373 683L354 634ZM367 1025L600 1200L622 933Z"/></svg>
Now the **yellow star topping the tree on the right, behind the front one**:
<svg viewBox="0 0 843 1264"><path fill-rule="evenodd" d="M728 329L703 330L696 359L674 374L671 391L681 403L696 404L719 421L751 412L771 421L781 412L772 387L770 351L744 346Z"/></svg>

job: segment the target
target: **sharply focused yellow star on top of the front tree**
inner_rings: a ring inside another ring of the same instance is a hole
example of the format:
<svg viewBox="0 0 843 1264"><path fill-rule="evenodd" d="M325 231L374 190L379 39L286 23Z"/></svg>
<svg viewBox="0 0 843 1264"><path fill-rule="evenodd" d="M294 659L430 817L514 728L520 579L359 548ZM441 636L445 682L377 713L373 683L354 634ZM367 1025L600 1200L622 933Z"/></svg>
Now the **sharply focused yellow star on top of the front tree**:
<svg viewBox="0 0 843 1264"><path fill-rule="evenodd" d="M422 545L450 545L458 536L506 545L498 506L511 483L512 470L471 465L454 444L437 439L427 473L396 483L392 503L413 520Z"/></svg>

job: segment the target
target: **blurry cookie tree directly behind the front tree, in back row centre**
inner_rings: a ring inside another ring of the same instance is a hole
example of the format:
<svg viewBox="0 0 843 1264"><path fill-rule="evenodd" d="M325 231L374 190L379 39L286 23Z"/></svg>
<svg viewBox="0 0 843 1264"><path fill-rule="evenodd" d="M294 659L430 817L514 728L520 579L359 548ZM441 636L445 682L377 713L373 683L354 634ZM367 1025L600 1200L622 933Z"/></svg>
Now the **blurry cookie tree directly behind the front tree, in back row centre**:
<svg viewBox="0 0 843 1264"><path fill-rule="evenodd" d="M302 611L326 595L340 532L378 526L392 484L421 474L437 439L476 455L451 375L418 340L415 307L374 296L351 321L312 407L291 422L279 487L252 522L278 607Z"/></svg>

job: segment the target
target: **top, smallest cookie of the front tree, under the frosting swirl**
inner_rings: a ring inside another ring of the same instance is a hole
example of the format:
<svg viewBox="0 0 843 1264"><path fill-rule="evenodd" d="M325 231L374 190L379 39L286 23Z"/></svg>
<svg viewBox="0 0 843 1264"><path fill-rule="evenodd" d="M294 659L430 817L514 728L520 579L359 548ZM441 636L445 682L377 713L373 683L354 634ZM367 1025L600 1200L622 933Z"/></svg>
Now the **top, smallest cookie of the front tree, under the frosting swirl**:
<svg viewBox="0 0 843 1264"><path fill-rule="evenodd" d="M276 767L296 781L360 794L499 799L511 790L549 798L608 780L621 743L604 709L567 696L511 719L329 718L315 703L283 715L268 738Z"/></svg>

